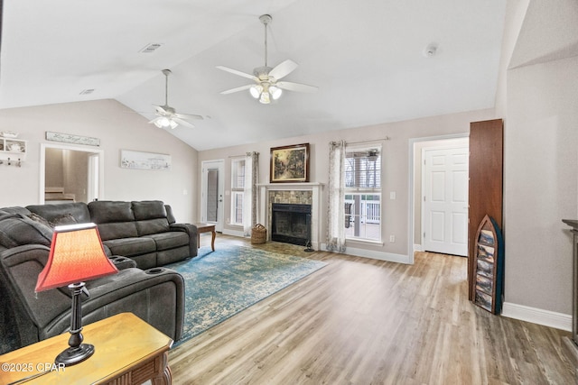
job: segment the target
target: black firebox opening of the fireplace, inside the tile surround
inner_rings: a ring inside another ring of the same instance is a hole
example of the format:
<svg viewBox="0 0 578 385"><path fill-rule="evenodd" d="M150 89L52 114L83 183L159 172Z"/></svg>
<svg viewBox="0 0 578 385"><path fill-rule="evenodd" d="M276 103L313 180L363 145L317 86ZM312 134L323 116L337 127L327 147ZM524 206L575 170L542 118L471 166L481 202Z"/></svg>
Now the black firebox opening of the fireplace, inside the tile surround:
<svg viewBox="0 0 578 385"><path fill-rule="evenodd" d="M307 246L311 242L311 205L274 203L271 240Z"/></svg>

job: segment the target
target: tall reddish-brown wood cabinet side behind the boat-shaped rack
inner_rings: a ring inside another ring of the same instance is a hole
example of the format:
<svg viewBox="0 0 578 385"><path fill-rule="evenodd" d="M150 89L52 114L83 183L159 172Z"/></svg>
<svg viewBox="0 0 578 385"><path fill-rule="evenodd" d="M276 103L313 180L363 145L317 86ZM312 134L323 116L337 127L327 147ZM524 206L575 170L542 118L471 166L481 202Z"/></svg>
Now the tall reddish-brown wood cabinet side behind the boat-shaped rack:
<svg viewBox="0 0 578 385"><path fill-rule="evenodd" d="M503 123L501 119L470 124L468 207L468 296L474 298L478 226L486 215L502 229Z"/></svg>

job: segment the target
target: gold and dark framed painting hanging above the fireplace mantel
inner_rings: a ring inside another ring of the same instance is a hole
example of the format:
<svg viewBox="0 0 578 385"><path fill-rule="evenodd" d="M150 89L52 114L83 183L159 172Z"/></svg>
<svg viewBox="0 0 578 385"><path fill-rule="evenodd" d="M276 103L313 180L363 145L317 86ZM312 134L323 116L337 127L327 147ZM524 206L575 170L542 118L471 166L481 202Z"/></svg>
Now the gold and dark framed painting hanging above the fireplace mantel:
<svg viewBox="0 0 578 385"><path fill-rule="evenodd" d="M271 183L309 181L309 143L271 148Z"/></svg>

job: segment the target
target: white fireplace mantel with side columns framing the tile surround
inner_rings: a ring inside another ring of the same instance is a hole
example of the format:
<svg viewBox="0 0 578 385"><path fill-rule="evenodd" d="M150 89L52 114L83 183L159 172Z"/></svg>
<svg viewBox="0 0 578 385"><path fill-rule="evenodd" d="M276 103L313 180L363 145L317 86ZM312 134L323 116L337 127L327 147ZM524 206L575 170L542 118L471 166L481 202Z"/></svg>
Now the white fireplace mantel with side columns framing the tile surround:
<svg viewBox="0 0 578 385"><path fill-rule="evenodd" d="M271 234L269 225L269 191L311 191L311 246L319 250L321 246L321 198L323 184L317 182L300 182L300 183L261 183L256 185L259 188L259 214L258 222L266 227Z"/></svg>

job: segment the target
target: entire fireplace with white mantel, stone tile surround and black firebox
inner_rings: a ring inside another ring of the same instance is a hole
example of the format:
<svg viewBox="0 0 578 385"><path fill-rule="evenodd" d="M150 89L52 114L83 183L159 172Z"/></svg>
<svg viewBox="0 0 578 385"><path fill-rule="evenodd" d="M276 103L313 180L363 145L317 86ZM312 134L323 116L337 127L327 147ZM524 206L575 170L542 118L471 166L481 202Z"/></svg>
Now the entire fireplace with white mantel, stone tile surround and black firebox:
<svg viewBox="0 0 578 385"><path fill-rule="evenodd" d="M301 245L306 245L306 242L309 241L313 249L319 250L321 246L319 223L322 186L321 183L312 182L258 185L260 188L259 223L266 226L269 241L273 240ZM277 208L275 221L274 205L275 208ZM306 211L307 214L300 215L303 214L303 211ZM301 216L301 218L298 218L299 216ZM280 219L281 222L275 224L275 222L278 222L278 219ZM295 220L296 222L293 225L289 225L288 221L291 220ZM309 223L307 223L307 220ZM278 225L282 225L284 228L279 229ZM288 229L287 226L292 227ZM279 230L281 230L281 232ZM290 231L298 234L288 234ZM305 239L303 243L303 238L309 239Z"/></svg>

